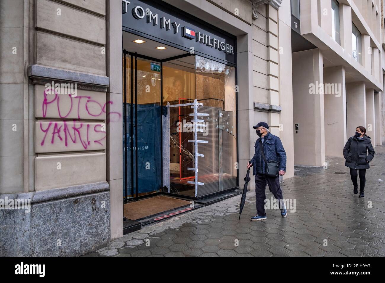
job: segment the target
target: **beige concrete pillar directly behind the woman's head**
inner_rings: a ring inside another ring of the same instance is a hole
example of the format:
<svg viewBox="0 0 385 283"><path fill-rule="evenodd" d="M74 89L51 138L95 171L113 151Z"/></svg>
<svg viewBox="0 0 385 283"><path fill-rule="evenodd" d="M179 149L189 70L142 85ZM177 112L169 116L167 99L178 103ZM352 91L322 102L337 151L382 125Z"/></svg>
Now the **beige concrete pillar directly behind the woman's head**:
<svg viewBox="0 0 385 283"><path fill-rule="evenodd" d="M346 84L346 131L354 135L356 127L366 125L365 83Z"/></svg>

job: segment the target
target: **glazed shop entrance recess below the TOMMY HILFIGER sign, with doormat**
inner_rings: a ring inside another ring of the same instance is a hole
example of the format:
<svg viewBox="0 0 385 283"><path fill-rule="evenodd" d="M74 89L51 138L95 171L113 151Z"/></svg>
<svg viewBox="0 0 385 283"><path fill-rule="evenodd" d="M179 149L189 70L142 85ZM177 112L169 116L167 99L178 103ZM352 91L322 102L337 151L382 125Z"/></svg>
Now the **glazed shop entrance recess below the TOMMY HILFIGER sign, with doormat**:
<svg viewBox="0 0 385 283"><path fill-rule="evenodd" d="M237 188L235 68L127 32L123 47L124 217L157 221Z"/></svg>

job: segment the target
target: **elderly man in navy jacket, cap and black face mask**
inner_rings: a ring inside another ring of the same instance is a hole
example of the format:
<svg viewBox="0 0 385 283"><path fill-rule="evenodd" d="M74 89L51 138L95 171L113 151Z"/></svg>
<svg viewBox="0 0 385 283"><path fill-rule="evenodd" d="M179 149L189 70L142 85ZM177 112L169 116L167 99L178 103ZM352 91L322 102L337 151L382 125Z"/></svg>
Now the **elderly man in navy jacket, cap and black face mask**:
<svg viewBox="0 0 385 283"><path fill-rule="evenodd" d="M270 192L280 204L281 216L286 217L287 210L283 203L280 187L280 175L283 176L286 172L285 149L283 149L280 138L269 132L269 125L265 122L259 122L253 128L256 129L259 138L255 142L254 157L248 162L247 167L254 166L253 175L255 175L257 215L250 218L250 220L259 221L266 219L266 211L264 209L266 184L268 184ZM269 168L266 166L269 166ZM271 171L275 171L275 169L277 171L276 176L275 174L272 176Z"/></svg>

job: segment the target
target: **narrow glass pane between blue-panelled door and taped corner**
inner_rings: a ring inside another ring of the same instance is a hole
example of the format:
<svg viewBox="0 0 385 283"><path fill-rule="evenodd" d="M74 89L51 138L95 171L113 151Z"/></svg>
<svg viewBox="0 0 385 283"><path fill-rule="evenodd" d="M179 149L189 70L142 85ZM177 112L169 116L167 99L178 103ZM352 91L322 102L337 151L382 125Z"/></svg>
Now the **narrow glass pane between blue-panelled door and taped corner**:
<svg viewBox="0 0 385 283"><path fill-rule="evenodd" d="M164 132L164 184L172 194L194 196L194 116L195 56L186 54L162 62ZM178 106L180 105L180 106ZM166 152L167 149L167 152ZM167 160L166 160L167 156Z"/></svg>

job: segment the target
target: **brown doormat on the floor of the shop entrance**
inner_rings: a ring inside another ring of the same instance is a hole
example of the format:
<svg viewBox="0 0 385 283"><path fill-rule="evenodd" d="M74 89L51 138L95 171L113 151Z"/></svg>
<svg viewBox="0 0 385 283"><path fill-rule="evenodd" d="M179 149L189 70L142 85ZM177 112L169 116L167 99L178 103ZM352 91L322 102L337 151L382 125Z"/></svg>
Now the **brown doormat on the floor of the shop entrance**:
<svg viewBox="0 0 385 283"><path fill-rule="evenodd" d="M128 219L137 220L187 204L190 204L190 202L183 199L171 198L169 196L154 196L124 204L123 214Z"/></svg>

